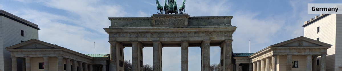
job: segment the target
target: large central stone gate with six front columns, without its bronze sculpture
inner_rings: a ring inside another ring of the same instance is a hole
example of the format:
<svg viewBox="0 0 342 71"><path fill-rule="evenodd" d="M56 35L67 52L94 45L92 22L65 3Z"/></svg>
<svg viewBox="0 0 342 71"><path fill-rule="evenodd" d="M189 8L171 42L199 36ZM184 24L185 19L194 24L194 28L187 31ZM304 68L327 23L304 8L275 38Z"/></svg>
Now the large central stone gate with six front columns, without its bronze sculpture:
<svg viewBox="0 0 342 71"><path fill-rule="evenodd" d="M209 71L210 46L221 48L221 70L232 71L233 16L190 17L153 14L151 17L108 18L110 71L123 70L123 48L132 47L132 71L142 71L144 47L153 47L153 69L162 71L162 48L181 47L181 70L188 71L188 47L201 48L201 71ZM165 61L164 61L165 62ZM166 61L167 62L167 61Z"/></svg>

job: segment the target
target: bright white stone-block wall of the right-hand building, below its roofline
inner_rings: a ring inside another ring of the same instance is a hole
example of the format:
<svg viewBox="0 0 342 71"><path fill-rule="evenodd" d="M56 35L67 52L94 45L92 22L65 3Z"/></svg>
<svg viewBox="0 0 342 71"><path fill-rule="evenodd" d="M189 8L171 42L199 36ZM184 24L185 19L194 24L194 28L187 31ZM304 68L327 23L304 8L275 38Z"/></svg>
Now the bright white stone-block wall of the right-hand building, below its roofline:
<svg viewBox="0 0 342 71"><path fill-rule="evenodd" d="M319 38L320 42L324 42L324 43L328 43L332 45L331 48L327 49L327 54L328 54L326 56L326 59L327 59L326 70L327 71L340 71L342 69L342 68L338 68L342 64L341 63L342 62L341 60L342 46L337 44L337 42L339 42L338 40L341 40L342 42L342 39L339 39L340 37L338 37L338 36L341 36L342 34L341 32L342 28L337 28L340 26L337 24L337 16L339 16L340 18L341 15L336 15L336 14L328 15L304 27L304 37L314 39L314 40ZM317 27L319 27L319 33L317 33ZM339 55L339 58L336 57L336 55ZM320 57L318 57L317 60L319 60L320 62ZM320 69L320 65L319 67L317 67L317 70L319 69Z"/></svg>

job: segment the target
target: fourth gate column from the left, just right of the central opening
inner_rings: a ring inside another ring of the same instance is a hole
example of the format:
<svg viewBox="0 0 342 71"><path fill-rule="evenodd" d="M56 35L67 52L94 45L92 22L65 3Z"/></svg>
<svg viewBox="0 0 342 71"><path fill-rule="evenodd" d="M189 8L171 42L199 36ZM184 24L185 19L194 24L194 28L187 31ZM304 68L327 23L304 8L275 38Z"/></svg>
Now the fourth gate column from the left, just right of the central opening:
<svg viewBox="0 0 342 71"><path fill-rule="evenodd" d="M182 57L182 71L188 71L188 54L189 54L189 42L188 40L183 40L182 42L182 46L181 46L181 57Z"/></svg>

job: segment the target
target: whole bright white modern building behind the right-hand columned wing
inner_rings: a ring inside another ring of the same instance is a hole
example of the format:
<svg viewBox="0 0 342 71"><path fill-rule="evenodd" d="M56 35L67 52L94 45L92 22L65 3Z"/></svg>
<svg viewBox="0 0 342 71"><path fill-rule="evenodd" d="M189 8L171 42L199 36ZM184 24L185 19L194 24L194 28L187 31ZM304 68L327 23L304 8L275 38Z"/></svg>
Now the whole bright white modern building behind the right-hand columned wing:
<svg viewBox="0 0 342 71"><path fill-rule="evenodd" d="M320 14L304 22L304 37L331 44L327 50L326 70L342 71L342 15ZM320 62L320 58L317 60ZM320 65L317 64L317 71Z"/></svg>

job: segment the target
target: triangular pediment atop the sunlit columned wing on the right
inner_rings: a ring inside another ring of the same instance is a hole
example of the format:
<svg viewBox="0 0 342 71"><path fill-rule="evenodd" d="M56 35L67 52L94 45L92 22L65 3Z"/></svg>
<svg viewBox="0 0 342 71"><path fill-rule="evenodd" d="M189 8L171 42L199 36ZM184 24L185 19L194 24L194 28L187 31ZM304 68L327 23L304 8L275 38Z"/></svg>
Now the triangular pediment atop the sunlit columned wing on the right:
<svg viewBox="0 0 342 71"><path fill-rule="evenodd" d="M306 37L298 37L278 44L271 45L271 47L319 47L319 46L332 46L330 44L316 41Z"/></svg>

